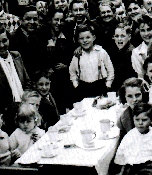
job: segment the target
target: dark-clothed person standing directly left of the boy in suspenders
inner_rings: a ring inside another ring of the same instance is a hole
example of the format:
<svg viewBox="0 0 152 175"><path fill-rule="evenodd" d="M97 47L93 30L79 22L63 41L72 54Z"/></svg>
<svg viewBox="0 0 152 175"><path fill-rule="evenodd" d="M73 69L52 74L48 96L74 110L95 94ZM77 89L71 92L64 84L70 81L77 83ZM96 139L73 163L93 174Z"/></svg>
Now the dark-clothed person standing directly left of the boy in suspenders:
<svg viewBox="0 0 152 175"><path fill-rule="evenodd" d="M73 41L68 37L64 12L54 12L50 33L47 37L48 65L54 70L52 77L52 94L55 98L60 114L64 114L66 112L65 109L69 108L69 92L72 85L70 82L68 67L73 55Z"/></svg>

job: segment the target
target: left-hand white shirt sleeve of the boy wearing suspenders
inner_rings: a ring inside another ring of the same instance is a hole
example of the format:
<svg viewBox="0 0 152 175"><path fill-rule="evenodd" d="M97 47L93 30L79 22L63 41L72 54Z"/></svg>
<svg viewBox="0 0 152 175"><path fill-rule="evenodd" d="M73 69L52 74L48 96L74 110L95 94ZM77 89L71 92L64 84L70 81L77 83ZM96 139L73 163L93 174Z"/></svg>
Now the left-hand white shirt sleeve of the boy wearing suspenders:
<svg viewBox="0 0 152 175"><path fill-rule="evenodd" d="M70 80L74 83L78 81L78 58L73 57L69 66Z"/></svg>

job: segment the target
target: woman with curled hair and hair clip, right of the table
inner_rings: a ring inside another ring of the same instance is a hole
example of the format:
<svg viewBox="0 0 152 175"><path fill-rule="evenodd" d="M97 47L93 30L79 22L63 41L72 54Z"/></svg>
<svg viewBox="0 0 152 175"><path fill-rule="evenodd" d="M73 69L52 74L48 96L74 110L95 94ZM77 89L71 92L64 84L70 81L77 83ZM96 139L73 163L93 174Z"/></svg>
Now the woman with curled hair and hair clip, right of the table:
<svg viewBox="0 0 152 175"><path fill-rule="evenodd" d="M117 126L120 128L120 140L134 128L133 123L133 108L139 102L148 102L149 86L143 79L129 78L124 81L119 90L120 102L127 103L128 107L117 121Z"/></svg>

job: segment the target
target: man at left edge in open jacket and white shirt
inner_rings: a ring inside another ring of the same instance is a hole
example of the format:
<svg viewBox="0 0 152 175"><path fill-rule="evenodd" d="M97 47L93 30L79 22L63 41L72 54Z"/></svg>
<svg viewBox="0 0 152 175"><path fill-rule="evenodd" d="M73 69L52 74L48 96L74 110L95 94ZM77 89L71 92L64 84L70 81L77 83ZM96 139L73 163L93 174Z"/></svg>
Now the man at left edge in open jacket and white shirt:
<svg viewBox="0 0 152 175"><path fill-rule="evenodd" d="M8 51L9 39L0 28L0 106L3 111L12 102L20 102L23 90L29 85L29 77L17 51Z"/></svg>

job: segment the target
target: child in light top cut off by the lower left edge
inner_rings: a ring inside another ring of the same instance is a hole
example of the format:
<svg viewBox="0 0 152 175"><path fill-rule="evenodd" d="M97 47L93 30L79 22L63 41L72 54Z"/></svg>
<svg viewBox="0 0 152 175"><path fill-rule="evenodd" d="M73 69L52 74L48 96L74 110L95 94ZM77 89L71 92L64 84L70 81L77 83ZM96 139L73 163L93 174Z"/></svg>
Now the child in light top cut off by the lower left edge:
<svg viewBox="0 0 152 175"><path fill-rule="evenodd" d="M2 115L0 115L0 167L9 166L11 163L11 152L9 151L9 139L6 132L1 130L3 125Z"/></svg>

